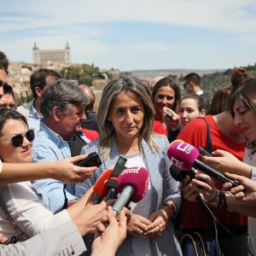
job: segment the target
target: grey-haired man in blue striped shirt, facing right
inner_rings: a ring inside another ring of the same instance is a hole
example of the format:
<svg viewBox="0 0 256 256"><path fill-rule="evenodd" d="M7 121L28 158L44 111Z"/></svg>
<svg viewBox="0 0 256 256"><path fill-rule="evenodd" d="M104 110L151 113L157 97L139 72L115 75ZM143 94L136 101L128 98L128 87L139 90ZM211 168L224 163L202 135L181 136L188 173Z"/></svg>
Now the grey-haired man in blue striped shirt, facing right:
<svg viewBox="0 0 256 256"><path fill-rule="evenodd" d="M88 97L78 86L61 79L44 88L40 111L44 118L40 120L40 129L33 145L33 161L60 160L80 154L81 148L89 143L83 131L81 120L85 119L84 109ZM95 171L88 167L88 176ZM67 199L64 184L54 179L33 182L33 187L42 197L44 205L52 212L60 212L64 203L69 206L77 200L75 184L68 184Z"/></svg>

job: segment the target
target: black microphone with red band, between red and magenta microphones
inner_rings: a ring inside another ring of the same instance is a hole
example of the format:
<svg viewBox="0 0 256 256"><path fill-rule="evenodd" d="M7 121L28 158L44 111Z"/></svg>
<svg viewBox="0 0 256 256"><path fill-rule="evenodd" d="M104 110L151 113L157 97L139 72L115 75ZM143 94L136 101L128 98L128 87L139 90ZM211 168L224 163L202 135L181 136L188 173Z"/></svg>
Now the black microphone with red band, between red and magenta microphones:
<svg viewBox="0 0 256 256"><path fill-rule="evenodd" d="M108 195L107 201L110 199L116 199L118 195L118 190L116 188L117 179L121 172L125 170L125 163L127 159L123 156L119 156L117 163L113 167L113 172L111 173L110 178L108 179L107 187L108 187Z"/></svg>

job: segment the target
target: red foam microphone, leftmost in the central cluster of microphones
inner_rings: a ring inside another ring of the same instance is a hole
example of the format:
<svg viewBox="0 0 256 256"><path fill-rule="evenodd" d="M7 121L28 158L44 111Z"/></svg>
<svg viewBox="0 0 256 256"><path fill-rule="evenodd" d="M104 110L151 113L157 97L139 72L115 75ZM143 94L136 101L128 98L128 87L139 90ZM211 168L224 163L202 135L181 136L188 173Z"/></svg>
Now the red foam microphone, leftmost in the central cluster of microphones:
<svg viewBox="0 0 256 256"><path fill-rule="evenodd" d="M113 166L102 172L102 175L97 178L96 183L93 186L93 191L96 193L90 204L97 205L101 203L102 199L108 195L108 179L113 172Z"/></svg>

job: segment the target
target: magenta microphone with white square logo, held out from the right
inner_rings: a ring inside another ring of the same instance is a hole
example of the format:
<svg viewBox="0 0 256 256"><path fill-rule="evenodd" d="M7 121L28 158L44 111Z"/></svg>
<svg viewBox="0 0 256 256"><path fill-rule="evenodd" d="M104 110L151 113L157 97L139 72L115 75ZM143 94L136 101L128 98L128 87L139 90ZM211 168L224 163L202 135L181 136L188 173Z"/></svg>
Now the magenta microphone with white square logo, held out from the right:
<svg viewBox="0 0 256 256"><path fill-rule="evenodd" d="M184 143L180 140L172 142L168 148L167 156L173 165L183 171L190 171L191 167L195 167L195 169L206 173L221 183L231 183L232 187L238 186L236 181L233 179L225 177L222 173L217 172L211 166L207 166L205 163L201 162L201 160L197 160L200 153L189 143Z"/></svg>

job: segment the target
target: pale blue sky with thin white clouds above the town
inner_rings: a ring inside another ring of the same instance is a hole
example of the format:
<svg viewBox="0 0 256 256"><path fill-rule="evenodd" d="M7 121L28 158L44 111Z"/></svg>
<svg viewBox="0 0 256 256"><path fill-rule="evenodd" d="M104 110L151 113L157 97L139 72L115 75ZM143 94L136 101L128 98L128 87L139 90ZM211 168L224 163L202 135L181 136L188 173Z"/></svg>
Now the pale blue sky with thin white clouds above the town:
<svg viewBox="0 0 256 256"><path fill-rule="evenodd" d="M64 49L101 69L215 69L256 62L256 0L0 0L0 50L32 63Z"/></svg>

